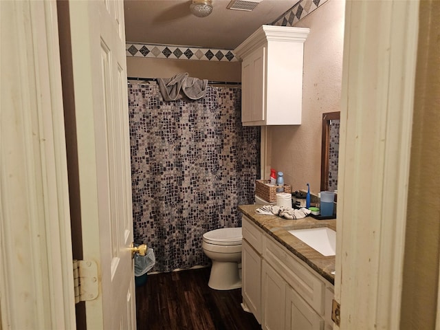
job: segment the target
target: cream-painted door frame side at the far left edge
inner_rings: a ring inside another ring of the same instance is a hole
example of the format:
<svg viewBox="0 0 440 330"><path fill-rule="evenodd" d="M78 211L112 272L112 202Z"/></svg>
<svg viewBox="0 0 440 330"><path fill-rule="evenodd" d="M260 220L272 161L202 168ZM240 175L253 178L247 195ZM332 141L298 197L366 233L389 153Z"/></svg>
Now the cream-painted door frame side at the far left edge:
<svg viewBox="0 0 440 330"><path fill-rule="evenodd" d="M0 329L75 329L56 2L0 13Z"/></svg>

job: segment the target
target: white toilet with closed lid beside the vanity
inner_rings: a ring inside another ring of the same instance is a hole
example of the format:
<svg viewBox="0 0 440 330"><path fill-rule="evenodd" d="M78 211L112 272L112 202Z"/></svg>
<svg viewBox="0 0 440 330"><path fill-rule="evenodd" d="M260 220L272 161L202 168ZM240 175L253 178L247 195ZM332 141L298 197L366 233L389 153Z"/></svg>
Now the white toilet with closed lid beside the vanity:
<svg viewBox="0 0 440 330"><path fill-rule="evenodd" d="M241 287L241 227L220 228L203 234L201 248L212 261L208 286L216 290Z"/></svg>

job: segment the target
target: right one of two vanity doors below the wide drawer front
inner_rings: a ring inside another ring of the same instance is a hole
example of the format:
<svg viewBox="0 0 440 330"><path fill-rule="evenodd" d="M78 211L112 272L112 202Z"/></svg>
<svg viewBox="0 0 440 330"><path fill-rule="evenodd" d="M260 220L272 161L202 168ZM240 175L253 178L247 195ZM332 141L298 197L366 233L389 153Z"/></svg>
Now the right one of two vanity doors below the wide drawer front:
<svg viewBox="0 0 440 330"><path fill-rule="evenodd" d="M322 330L324 320L295 292L287 286L285 298L286 330ZM279 328L281 329L281 328Z"/></svg>

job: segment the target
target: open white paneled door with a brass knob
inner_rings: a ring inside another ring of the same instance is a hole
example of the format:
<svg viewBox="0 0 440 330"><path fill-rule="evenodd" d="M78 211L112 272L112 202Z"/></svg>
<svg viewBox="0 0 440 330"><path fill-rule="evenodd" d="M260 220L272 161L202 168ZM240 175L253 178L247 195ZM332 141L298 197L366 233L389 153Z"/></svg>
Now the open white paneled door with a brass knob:
<svg viewBox="0 0 440 330"><path fill-rule="evenodd" d="M69 1L69 22L80 237L99 279L87 329L135 329L123 1Z"/></svg>

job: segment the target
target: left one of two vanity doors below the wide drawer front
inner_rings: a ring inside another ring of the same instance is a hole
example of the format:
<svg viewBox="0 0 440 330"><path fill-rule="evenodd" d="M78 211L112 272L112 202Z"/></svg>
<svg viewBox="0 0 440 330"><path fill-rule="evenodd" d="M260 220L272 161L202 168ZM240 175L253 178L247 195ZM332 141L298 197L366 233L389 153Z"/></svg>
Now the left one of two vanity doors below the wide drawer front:
<svg viewBox="0 0 440 330"><path fill-rule="evenodd" d="M263 261L263 329L285 329L285 293L287 283Z"/></svg>

